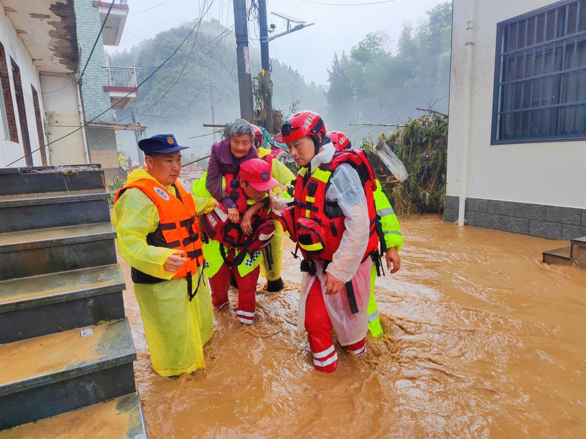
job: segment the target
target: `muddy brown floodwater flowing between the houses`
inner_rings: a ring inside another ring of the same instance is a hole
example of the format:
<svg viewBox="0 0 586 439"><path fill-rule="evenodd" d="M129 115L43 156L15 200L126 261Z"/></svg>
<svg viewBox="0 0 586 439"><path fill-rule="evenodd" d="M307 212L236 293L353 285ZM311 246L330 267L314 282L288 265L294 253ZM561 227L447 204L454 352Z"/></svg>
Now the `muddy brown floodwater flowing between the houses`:
<svg viewBox="0 0 586 439"><path fill-rule="evenodd" d="M547 239L402 221L401 270L379 279L387 334L366 359L314 371L295 330L298 263L259 283L257 319L214 311L205 372L161 378L148 359L130 270L124 300L150 437L586 437L586 271L548 266ZM286 248L292 248L287 241Z"/></svg>

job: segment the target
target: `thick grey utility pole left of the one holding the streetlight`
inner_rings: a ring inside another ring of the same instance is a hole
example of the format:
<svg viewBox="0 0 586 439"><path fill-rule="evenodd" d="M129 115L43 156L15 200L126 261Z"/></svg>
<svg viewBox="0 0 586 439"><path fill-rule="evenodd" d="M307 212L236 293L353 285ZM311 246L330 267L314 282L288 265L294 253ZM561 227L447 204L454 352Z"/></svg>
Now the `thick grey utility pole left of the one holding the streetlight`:
<svg viewBox="0 0 586 439"><path fill-rule="evenodd" d="M253 119L253 83L250 75L247 22L246 0L234 0L234 33L236 33L240 117L251 121Z"/></svg>

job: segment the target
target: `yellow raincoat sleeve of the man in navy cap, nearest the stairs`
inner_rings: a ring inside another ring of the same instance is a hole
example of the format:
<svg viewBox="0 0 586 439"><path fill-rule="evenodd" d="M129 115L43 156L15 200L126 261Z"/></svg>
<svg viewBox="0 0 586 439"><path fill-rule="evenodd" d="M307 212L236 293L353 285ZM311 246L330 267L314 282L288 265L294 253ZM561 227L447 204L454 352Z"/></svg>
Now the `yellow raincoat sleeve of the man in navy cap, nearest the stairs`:
<svg viewBox="0 0 586 439"><path fill-rule="evenodd" d="M137 270L160 279L172 279L163 264L175 250L148 245L147 235L159 224L155 204L140 189L129 188L112 210L112 223L118 237L118 248L124 260Z"/></svg>

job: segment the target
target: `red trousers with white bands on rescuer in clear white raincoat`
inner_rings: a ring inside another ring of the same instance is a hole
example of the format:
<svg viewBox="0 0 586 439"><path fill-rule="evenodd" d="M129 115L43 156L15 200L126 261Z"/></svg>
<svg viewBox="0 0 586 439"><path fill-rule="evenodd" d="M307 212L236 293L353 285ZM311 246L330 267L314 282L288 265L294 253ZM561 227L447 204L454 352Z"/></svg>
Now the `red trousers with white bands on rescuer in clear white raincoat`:
<svg viewBox="0 0 586 439"><path fill-rule="evenodd" d="M332 321L323 301L321 282L315 277L305 302L305 329L314 367L321 372L333 372L338 366L338 354L333 345L332 328ZM356 355L362 355L366 352L366 339L363 338L343 348Z"/></svg>

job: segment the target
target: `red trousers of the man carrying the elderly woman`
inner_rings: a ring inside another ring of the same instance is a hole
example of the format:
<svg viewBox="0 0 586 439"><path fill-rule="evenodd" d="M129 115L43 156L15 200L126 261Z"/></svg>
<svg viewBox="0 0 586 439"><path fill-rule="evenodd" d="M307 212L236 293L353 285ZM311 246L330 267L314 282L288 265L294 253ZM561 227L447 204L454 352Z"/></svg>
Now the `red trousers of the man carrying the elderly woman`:
<svg viewBox="0 0 586 439"><path fill-rule="evenodd" d="M210 289L212 290L212 304L221 308L229 303L228 289L230 288L230 273L236 278L238 285L238 320L240 323L253 324L256 305L256 286L260 267L256 267L245 276L240 276L238 267L231 267L226 263L218 272L210 277Z"/></svg>

